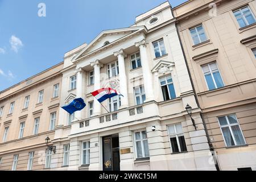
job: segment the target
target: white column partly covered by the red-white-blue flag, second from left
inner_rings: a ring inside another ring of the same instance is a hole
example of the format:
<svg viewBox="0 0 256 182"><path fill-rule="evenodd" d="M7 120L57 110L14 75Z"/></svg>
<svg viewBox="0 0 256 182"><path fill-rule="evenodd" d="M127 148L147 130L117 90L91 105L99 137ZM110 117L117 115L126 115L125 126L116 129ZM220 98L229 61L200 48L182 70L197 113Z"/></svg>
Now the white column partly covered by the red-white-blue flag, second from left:
<svg viewBox="0 0 256 182"><path fill-rule="evenodd" d="M96 60L90 65L94 68L94 90L98 90L101 88L101 68L103 65L100 63L99 60ZM94 98L93 103L93 115L100 115L101 114L101 104Z"/></svg>

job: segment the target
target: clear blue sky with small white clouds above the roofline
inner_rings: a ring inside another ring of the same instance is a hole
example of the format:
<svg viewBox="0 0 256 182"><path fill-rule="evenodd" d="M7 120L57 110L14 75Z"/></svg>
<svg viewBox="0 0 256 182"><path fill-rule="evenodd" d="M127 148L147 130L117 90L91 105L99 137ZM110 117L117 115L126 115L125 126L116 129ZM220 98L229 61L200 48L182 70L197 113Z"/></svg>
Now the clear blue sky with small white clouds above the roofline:
<svg viewBox="0 0 256 182"><path fill-rule="evenodd" d="M131 26L135 16L165 1L0 0L0 90L60 63L65 52L102 30ZM38 16L39 3L46 17Z"/></svg>

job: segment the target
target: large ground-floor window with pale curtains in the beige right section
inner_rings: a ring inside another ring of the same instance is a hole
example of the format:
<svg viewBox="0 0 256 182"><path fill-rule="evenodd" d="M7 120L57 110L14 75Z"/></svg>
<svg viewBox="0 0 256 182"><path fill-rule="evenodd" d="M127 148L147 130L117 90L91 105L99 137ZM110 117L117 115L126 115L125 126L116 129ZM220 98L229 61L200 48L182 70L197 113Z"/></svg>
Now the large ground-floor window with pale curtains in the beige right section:
<svg viewBox="0 0 256 182"><path fill-rule="evenodd" d="M236 115L218 117L218 122L227 147L246 144Z"/></svg>

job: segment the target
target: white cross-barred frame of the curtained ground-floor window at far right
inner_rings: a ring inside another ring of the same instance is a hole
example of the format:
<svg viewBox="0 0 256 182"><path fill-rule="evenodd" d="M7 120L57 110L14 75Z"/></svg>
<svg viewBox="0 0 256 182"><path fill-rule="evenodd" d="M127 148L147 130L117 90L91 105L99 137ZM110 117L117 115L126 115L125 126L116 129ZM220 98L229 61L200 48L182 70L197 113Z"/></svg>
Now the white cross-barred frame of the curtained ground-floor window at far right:
<svg viewBox="0 0 256 182"><path fill-rule="evenodd" d="M237 123L232 123L232 124L230 124L230 123L229 123L229 119L228 119L228 115L234 115L234 117L236 117ZM228 123L228 125L222 125L222 126L221 126L220 120L218 119L218 118L220 118L220 117L225 117L225 118L226 118L226 122ZM220 126L222 138L223 138L223 140L224 140L224 142L225 142L225 146L226 146L226 147L239 147L239 146L243 146L243 145L246 145L246 144L247 144L247 143L246 143L246 140L245 140L245 136L243 135L243 131L242 131L241 127L240 127L240 123L238 122L238 119L237 119L237 115L236 115L236 114L220 115L220 116L217 117L217 121L218 121L218 126ZM233 134L233 130L231 129L231 126L236 126L236 125L238 125L238 127L239 127L239 129L240 129L240 131L241 131L243 140L245 141L244 144L237 144L236 138L234 138L234 134ZM225 140L223 131L222 131L222 129L221 129L222 127L228 127L228 128L229 128L229 132L230 132L230 134L231 134L231 136L232 136L232 138L233 138L234 146L228 146L228 145L226 144L226 140Z"/></svg>

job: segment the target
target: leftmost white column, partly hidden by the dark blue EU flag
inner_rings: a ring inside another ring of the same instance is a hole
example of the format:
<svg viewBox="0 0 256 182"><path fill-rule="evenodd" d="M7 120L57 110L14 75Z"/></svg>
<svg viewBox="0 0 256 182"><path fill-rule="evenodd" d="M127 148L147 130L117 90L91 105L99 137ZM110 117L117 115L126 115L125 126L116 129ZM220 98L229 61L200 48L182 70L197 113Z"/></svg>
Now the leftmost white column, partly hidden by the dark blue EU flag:
<svg viewBox="0 0 256 182"><path fill-rule="evenodd" d="M76 69L76 98L82 98L82 68ZM75 112L75 118L82 119L82 110Z"/></svg>

